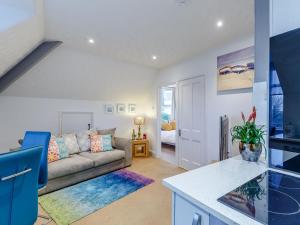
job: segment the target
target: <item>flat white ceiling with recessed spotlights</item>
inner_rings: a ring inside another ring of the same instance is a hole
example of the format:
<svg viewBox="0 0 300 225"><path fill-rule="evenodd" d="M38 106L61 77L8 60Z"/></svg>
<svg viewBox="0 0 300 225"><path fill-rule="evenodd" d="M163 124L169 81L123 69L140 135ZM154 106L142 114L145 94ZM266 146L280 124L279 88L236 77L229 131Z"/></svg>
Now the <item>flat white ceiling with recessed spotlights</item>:
<svg viewBox="0 0 300 225"><path fill-rule="evenodd" d="M46 37L94 54L164 68L254 32L254 0L188 0L183 6L176 2L45 0ZM216 27L219 19L224 21L221 29ZM88 38L95 39L93 46ZM153 61L152 55L158 59Z"/></svg>

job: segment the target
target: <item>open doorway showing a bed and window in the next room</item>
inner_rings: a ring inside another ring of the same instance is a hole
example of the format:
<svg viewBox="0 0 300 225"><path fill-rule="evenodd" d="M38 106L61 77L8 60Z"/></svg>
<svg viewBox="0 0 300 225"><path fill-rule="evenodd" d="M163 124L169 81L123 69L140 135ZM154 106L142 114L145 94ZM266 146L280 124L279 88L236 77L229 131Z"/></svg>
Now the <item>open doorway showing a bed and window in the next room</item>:
<svg viewBox="0 0 300 225"><path fill-rule="evenodd" d="M176 162L176 84L163 86L159 91L159 146L160 157L168 162Z"/></svg>

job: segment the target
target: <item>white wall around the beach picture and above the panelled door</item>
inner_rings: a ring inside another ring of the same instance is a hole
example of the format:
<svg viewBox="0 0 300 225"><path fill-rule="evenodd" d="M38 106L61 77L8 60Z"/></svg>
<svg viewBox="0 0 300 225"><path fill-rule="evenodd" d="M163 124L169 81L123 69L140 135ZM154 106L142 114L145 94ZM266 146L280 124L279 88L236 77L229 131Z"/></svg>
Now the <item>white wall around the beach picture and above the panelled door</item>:
<svg viewBox="0 0 300 225"><path fill-rule="evenodd" d="M240 122L240 112L252 108L252 90L217 92L217 56L254 44L253 37L216 48L159 72L156 88L179 80L205 75L206 78L206 151L207 161L219 159L219 117L227 114L230 124ZM237 148L232 154L237 153Z"/></svg>

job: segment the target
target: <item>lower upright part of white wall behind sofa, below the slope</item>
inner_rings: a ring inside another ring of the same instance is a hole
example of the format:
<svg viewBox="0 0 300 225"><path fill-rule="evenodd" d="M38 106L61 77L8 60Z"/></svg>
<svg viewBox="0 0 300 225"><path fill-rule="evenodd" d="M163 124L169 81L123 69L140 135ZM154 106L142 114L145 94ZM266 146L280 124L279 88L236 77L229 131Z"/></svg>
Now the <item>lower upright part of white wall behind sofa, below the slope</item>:
<svg viewBox="0 0 300 225"><path fill-rule="evenodd" d="M133 117L144 114L147 106L137 104L136 114L109 115L104 113L105 103L114 102L1 96L0 152L17 146L17 140L23 137L26 130L59 134L59 112L65 111L93 112L95 128L117 127L117 136L130 138L131 129L134 127ZM150 132L151 127L144 130Z"/></svg>

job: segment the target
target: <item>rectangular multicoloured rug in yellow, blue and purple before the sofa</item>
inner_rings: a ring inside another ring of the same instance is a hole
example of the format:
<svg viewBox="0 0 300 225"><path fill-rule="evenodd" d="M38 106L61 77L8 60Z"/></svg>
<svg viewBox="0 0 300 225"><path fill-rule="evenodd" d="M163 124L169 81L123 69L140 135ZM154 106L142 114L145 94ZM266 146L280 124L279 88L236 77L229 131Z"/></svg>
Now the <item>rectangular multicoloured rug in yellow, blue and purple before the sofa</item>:
<svg viewBox="0 0 300 225"><path fill-rule="evenodd" d="M57 225L69 225L152 182L122 169L41 196L39 203Z"/></svg>

